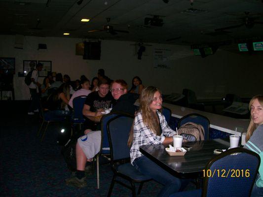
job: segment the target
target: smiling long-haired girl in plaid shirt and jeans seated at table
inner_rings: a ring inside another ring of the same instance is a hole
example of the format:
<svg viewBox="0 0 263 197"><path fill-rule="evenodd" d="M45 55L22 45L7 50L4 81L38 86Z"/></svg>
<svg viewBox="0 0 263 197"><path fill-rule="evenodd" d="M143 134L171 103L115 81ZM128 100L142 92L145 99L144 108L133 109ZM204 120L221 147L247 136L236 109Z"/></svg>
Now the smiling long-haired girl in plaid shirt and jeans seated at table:
<svg viewBox="0 0 263 197"><path fill-rule="evenodd" d="M145 157L139 148L146 144L172 143L173 131L160 112L162 108L161 92L152 86L143 89L140 96L140 110L134 119L128 145L131 146L131 164L141 173L161 183L164 187L158 197L169 197L181 188L181 179L173 176L159 165Z"/></svg>

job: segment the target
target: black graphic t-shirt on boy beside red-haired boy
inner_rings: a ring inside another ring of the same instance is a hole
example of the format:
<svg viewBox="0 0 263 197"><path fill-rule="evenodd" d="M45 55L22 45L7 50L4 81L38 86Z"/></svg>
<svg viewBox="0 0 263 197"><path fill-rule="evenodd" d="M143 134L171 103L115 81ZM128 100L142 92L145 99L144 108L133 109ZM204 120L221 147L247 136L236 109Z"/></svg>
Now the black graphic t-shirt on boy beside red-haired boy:
<svg viewBox="0 0 263 197"><path fill-rule="evenodd" d="M96 112L96 110L101 108L110 108L114 102L115 100L110 92L106 97L100 97L98 91L96 91L87 96L85 104L90 106L90 111Z"/></svg>

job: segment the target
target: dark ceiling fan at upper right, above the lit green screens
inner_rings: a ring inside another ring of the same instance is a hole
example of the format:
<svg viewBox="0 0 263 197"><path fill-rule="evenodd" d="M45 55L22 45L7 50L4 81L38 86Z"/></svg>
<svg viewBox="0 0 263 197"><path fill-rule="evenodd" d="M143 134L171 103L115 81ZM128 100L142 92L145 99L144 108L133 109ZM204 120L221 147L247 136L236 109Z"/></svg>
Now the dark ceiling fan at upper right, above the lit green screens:
<svg viewBox="0 0 263 197"><path fill-rule="evenodd" d="M229 29L235 29L235 28L239 28L241 26L245 26L246 28L250 29L250 28L253 28L255 24L263 24L263 22L255 21L255 19L257 19L257 18L258 17L250 17L249 12L245 12L245 17L242 18L242 21L240 24L228 26L225 28L215 29L215 31L224 31L224 30L229 30ZM237 22L240 22L240 21L237 21Z"/></svg>

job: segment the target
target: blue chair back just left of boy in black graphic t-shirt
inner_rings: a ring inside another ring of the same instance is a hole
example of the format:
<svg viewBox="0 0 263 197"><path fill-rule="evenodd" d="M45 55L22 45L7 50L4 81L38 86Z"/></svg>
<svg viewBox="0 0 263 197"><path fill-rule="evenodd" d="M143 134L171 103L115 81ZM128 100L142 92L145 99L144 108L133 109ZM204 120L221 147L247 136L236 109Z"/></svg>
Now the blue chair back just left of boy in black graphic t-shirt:
<svg viewBox="0 0 263 197"><path fill-rule="evenodd" d="M73 99L73 117L72 122L74 125L79 125L79 130L81 130L81 125L85 122L82 114L84 102L87 96L79 96Z"/></svg>

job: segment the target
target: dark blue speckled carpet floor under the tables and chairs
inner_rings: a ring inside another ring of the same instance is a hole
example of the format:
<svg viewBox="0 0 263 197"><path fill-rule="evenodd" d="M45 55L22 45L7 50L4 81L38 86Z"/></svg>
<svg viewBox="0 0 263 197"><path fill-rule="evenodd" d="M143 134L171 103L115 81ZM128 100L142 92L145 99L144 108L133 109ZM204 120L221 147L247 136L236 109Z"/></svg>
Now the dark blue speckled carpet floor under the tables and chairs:
<svg viewBox="0 0 263 197"><path fill-rule="evenodd" d="M55 126L48 128L44 140L37 136L38 114L27 115L28 102L0 101L0 196L1 197L105 197L112 180L110 164L100 166L97 189L96 169L87 177L88 187L77 189L65 184L71 171L56 143ZM161 185L144 184L140 197L154 197ZM187 189L193 188L192 185ZM131 191L115 184L112 197L129 197Z"/></svg>

